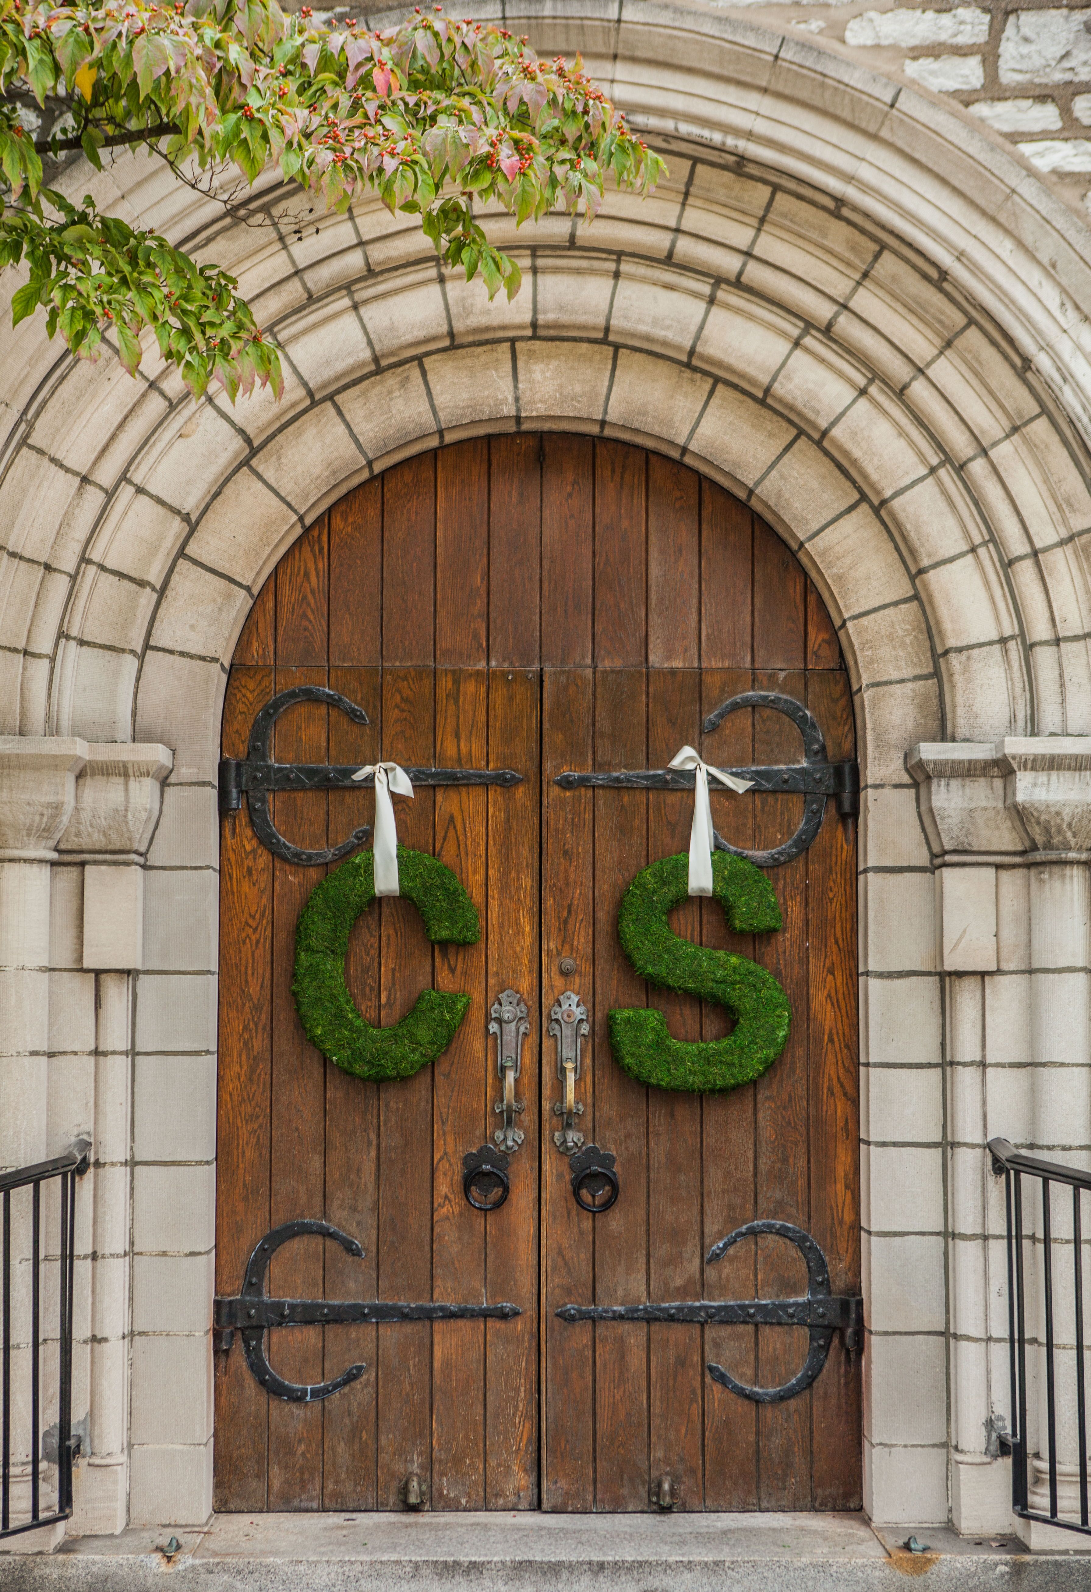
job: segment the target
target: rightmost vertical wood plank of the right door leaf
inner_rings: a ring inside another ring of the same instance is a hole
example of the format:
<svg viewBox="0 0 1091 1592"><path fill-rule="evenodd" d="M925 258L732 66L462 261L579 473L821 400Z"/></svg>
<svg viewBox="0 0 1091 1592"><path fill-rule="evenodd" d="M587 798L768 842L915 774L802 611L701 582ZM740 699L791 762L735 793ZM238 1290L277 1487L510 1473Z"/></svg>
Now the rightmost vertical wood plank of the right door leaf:
<svg viewBox="0 0 1091 1592"><path fill-rule="evenodd" d="M854 751L844 670L807 677L807 707L833 759ZM860 1071L857 1020L855 834L828 802L806 855L811 1009L811 1232L835 1293L860 1291ZM814 1508L858 1509L860 1355L849 1364L835 1336L812 1388Z"/></svg>

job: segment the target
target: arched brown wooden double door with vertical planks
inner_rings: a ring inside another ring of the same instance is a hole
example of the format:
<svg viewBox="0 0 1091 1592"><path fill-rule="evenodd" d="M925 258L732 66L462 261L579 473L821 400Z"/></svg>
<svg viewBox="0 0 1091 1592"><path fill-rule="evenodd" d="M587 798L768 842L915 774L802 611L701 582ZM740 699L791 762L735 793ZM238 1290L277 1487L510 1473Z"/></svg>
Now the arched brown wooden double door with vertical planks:
<svg viewBox="0 0 1091 1592"><path fill-rule="evenodd" d="M255 713L296 685L330 686L368 724L303 704L277 761L379 758L510 767L511 786L419 786L395 798L403 844L441 858L475 901L473 946L432 946L408 901L357 922L347 981L373 1024L420 989L471 997L454 1043L413 1078L363 1083L307 1044L291 997L296 919L328 869L255 837L245 801L223 820L217 1291L236 1294L264 1232L320 1218L363 1245L301 1237L269 1291L312 1299L510 1301L514 1320L298 1326L268 1334L287 1379L363 1361L322 1403L271 1398L239 1345L217 1356L217 1509L398 1509L406 1477L432 1509L642 1511L661 1476L680 1509L860 1506L860 1366L835 1337L806 1393L757 1406L706 1372L720 1361L776 1385L806 1358L803 1329L569 1325L564 1304L777 1297L806 1291L798 1251L712 1243L780 1218L822 1245L835 1293L858 1293L854 839L830 802L800 858L768 869L779 933L731 933L688 901L675 931L766 966L792 1003L784 1054L725 1095L647 1089L615 1063L607 1013L659 1006L682 1040L728 1032L720 1008L643 984L616 935L621 892L688 849L693 796L564 790L564 771L663 767L683 743L720 766L798 763L800 734L766 710L704 716L750 689L804 702L831 758L852 756L836 634L784 543L691 470L615 441L514 435L387 470L323 516L260 594L228 681L223 751L245 756ZM274 798L301 847L373 821L374 794ZM769 849L801 796L718 793L733 844ZM564 966L562 966L564 960ZM500 1118L489 1011L505 989L530 1032L516 1095L524 1143L510 1196L481 1213L463 1154ZM578 1208L557 1151L549 1011L589 1013L577 1095L588 1140L616 1156L620 1197Z"/></svg>

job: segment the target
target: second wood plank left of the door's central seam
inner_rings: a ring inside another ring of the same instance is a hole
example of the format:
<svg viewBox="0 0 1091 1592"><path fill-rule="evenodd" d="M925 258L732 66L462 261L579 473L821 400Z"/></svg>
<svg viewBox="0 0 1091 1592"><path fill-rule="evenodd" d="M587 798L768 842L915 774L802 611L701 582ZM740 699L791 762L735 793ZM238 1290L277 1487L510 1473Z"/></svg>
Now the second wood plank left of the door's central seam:
<svg viewBox="0 0 1091 1592"><path fill-rule="evenodd" d="M441 455L443 457L443 455ZM484 646L484 635L481 635ZM436 761L483 769L489 758L489 680L483 669L436 670ZM436 1299L486 1296L486 1219L462 1192L462 1157L492 1137L486 1119L487 791L436 791L436 856L481 915L476 946L435 947L435 987L473 998L451 1046L433 1065L433 1267ZM489 1218L492 1219L492 1218ZM484 1508L484 1321L436 1321L432 1339L432 1508Z"/></svg>

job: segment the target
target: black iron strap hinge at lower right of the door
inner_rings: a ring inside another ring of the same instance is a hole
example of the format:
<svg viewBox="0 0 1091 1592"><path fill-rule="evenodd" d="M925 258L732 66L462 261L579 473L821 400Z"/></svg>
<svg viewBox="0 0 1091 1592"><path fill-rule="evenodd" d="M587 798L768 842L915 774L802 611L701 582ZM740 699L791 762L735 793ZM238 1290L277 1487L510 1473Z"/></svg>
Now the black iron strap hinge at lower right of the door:
<svg viewBox="0 0 1091 1592"><path fill-rule="evenodd" d="M803 1369L776 1388L753 1388L739 1382L723 1366L710 1363L714 1382L753 1404L782 1404L809 1388L830 1353L835 1333L844 1336L852 1353L863 1336L863 1299L830 1293L830 1267L817 1242L790 1221L749 1221L726 1239L714 1243L707 1262L721 1259L742 1239L772 1234L787 1239L803 1254L807 1266L807 1293L803 1299L694 1299L667 1304L565 1304L557 1310L562 1321L696 1321L704 1326L806 1326L811 1344Z"/></svg>

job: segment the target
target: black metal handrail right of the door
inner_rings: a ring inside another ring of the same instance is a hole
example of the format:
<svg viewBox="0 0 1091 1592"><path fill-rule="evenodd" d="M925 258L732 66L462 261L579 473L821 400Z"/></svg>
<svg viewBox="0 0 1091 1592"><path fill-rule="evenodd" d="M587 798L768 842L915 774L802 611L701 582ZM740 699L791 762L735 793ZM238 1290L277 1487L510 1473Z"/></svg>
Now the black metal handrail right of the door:
<svg viewBox="0 0 1091 1592"><path fill-rule="evenodd" d="M1091 1191L1091 1173L1042 1161L1015 1149L1007 1138L991 1138L992 1170L1005 1180L1008 1229L1008 1374L1011 1380L1011 1431L1000 1434L1000 1446L1011 1453L1011 1508L1024 1520L1040 1520L1069 1532L1091 1535L1088 1524L1088 1399L1083 1336L1083 1221L1080 1200ZM1045 1313L1045 1395L1046 1395L1046 1463L1050 1474L1050 1512L1030 1509L1029 1444L1027 1444L1027 1294L1024 1274L1023 1178L1042 1184L1042 1304ZM1051 1186L1072 1189L1072 1275L1075 1321L1075 1398L1077 1446L1080 1471L1080 1520L1064 1519L1058 1500L1058 1379L1054 1356L1053 1297L1053 1202Z"/></svg>

